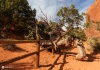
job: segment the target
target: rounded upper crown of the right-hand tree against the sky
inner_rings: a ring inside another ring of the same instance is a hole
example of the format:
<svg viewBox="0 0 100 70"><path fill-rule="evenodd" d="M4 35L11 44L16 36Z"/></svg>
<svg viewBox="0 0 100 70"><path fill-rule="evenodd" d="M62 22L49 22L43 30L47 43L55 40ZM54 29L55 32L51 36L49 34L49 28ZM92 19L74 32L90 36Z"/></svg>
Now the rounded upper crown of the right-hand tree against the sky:
<svg viewBox="0 0 100 70"><path fill-rule="evenodd" d="M73 4L70 7L62 7L57 16L69 27L78 26L83 21L83 15L79 14L78 9Z"/></svg>

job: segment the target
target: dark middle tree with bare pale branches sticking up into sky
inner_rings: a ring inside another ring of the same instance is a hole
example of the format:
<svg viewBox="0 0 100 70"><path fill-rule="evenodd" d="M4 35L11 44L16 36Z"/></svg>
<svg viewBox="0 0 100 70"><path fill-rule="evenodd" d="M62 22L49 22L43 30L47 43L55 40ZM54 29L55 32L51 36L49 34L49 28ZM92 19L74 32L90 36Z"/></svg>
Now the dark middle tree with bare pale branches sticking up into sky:
<svg viewBox="0 0 100 70"><path fill-rule="evenodd" d="M41 9L40 9L41 10ZM41 10L41 13L44 17L40 17L42 22L39 22L39 26L42 25L39 29L40 35L43 37L47 37L46 39L51 39L52 41L56 40L56 38L62 34L62 28L57 22L53 22L50 19L48 19L48 16L45 15L45 13ZM41 29L42 28L42 29ZM41 31L42 30L42 31ZM45 38L44 38L45 39Z"/></svg>

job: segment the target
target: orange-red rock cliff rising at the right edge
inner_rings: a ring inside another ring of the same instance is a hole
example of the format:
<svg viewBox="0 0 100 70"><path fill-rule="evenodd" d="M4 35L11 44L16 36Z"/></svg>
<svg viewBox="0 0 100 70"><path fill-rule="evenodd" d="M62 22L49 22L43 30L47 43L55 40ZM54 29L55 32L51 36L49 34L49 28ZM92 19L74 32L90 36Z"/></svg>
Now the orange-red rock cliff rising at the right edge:
<svg viewBox="0 0 100 70"><path fill-rule="evenodd" d="M86 12L86 21L92 23L92 28L85 29L87 37L100 37L100 31L97 31L96 29L96 22L100 22L100 0L95 0L95 2L88 8Z"/></svg>

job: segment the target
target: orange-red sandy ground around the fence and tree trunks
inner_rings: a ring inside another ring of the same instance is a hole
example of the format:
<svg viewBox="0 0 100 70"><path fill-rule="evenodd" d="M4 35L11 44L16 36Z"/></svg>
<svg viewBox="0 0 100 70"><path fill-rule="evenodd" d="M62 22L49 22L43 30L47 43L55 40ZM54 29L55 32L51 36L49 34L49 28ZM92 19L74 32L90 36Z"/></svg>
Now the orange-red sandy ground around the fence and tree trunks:
<svg viewBox="0 0 100 70"><path fill-rule="evenodd" d="M87 50L88 45L84 43ZM8 60L36 50L32 43L17 44L19 51L3 50L0 45L0 61ZM100 70L100 54L92 55L87 51L84 61L75 60L78 49L63 50L59 54L52 54L47 50L40 53L40 67L35 68L35 55L7 64L4 70ZM0 70L3 70L0 68Z"/></svg>

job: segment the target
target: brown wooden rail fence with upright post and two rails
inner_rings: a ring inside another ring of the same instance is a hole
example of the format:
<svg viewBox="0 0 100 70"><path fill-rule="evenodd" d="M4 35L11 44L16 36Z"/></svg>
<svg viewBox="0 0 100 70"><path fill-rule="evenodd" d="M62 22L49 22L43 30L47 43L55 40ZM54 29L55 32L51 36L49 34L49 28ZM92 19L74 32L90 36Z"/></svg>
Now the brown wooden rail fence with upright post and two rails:
<svg viewBox="0 0 100 70"><path fill-rule="evenodd" d="M28 54L24 54L22 56L18 56L6 61L0 61L0 68L6 64L18 61L20 59L26 58L28 56L36 54L36 62L35 62L35 67L39 67L39 60L40 60L40 52L49 49L50 47L47 47L45 49L40 50L40 38L37 36L37 40L9 40L9 39L0 39L0 44L19 44L19 43L37 43L37 48L35 52L31 52Z"/></svg>

